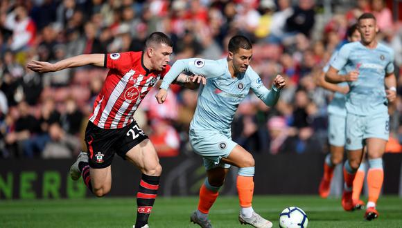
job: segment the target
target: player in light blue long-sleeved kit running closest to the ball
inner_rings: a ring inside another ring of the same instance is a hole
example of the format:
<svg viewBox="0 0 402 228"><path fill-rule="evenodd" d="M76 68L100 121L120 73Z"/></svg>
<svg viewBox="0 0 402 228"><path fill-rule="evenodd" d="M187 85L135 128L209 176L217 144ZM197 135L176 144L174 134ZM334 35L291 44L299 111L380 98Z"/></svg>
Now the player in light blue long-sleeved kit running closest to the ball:
<svg viewBox="0 0 402 228"><path fill-rule="evenodd" d="M156 98L159 104L167 96L169 84L182 71L204 75L207 84L200 89L198 105L191 121L189 140L195 153L202 155L207 178L200 189L198 210L191 221L201 227L211 227L207 219L209 209L218 197L230 165L239 168L237 190L241 211L238 220L254 227L272 227L252 208L254 191L254 158L251 153L231 140L231 122L238 104L247 96L250 88L266 105L277 103L285 79L277 75L272 89L268 90L261 78L249 66L252 59L252 44L243 36L232 37L226 59L181 59L173 64L166 74Z"/></svg>

